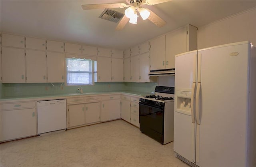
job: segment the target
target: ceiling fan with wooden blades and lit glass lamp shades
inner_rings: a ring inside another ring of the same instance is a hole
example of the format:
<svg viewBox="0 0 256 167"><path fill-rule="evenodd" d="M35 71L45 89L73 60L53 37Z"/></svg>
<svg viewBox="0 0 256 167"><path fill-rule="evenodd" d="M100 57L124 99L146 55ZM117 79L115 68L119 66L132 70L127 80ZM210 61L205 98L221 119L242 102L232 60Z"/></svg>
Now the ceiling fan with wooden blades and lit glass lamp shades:
<svg viewBox="0 0 256 167"><path fill-rule="evenodd" d="M125 15L120 20L118 25L116 26L116 30L122 30L126 23L129 21L132 24L137 24L138 13L142 17L143 20L150 20L158 27L162 27L166 24L166 22L157 16L154 12L147 8L142 8L141 5L155 5L164 2L169 2L171 0L126 0L128 4L125 3L115 3L115 4L87 4L82 5L82 9L90 10L90 9L104 9L104 8L125 8L129 7L125 10Z"/></svg>

